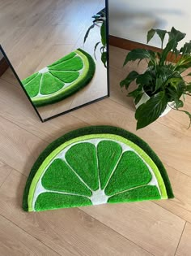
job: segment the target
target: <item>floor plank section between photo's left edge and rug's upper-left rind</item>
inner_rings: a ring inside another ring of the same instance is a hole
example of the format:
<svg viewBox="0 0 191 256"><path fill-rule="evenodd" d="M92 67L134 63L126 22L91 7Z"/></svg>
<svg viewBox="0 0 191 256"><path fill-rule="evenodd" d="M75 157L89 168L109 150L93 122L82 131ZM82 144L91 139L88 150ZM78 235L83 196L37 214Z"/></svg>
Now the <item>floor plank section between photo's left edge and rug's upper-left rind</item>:
<svg viewBox="0 0 191 256"><path fill-rule="evenodd" d="M0 159L28 176L47 142L0 117Z"/></svg>

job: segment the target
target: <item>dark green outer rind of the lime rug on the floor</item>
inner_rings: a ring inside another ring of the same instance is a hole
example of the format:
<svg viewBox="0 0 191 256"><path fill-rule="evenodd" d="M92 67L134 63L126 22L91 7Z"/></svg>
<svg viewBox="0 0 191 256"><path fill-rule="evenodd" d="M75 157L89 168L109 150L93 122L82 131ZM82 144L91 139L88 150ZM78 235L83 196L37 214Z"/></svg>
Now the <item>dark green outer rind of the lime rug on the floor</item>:
<svg viewBox="0 0 191 256"><path fill-rule="evenodd" d="M134 144L137 144L139 147L142 148L148 154L151 159L154 161L155 165L159 168L160 174L163 178L163 182L167 189L168 198L173 198L173 192L172 187L170 184L170 181L168 179L168 174L165 168L163 167L163 163L159 160L159 157L155 154L153 150L151 150L151 147L145 142L142 141L141 138L137 137L131 132L127 132L122 128L112 127L112 126L90 126L86 128L79 128L77 130L74 130L72 132L66 133L64 136L58 138L56 141L53 141L39 156L39 158L36 160L36 163L33 165L32 170L28 176L27 184L24 189L23 193L23 210L28 211L28 192L30 189L30 185L32 183L33 177L36 175L36 171L38 171L40 165L44 162L45 158L55 149L57 149L58 146L62 145L66 141L69 141L71 139L74 139L75 137L81 137L84 135L89 134L102 134L102 133L111 133L116 134L121 137L125 137L129 141L134 142Z"/></svg>

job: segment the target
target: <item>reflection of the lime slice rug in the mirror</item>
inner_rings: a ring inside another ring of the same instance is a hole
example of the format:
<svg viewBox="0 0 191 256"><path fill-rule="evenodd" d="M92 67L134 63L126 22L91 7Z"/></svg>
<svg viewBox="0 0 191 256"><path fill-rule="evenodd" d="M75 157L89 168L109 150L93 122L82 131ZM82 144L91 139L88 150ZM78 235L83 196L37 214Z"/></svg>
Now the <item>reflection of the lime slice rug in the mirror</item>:
<svg viewBox="0 0 191 256"><path fill-rule="evenodd" d="M78 49L22 80L22 84L35 106L45 106L88 85L95 71L91 55Z"/></svg>

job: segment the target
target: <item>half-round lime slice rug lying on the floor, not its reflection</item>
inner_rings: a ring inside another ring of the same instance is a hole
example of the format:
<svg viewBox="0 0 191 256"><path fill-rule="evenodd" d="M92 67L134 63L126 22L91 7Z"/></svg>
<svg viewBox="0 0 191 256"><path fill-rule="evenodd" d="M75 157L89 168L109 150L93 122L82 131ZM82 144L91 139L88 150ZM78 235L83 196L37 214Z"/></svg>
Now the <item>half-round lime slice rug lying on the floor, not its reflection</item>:
<svg viewBox="0 0 191 256"><path fill-rule="evenodd" d="M69 132L40 154L23 209L51 210L172 198L167 172L146 142L121 128Z"/></svg>

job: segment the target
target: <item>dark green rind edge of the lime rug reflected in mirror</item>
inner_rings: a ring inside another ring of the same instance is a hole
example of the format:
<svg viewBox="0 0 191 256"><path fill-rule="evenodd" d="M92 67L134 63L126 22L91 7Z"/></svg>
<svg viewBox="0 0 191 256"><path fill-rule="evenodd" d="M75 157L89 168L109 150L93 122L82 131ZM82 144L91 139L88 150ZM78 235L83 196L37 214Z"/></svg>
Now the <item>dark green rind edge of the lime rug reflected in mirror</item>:
<svg viewBox="0 0 191 256"><path fill-rule="evenodd" d="M45 98L38 98L38 99L31 98L35 106L46 106L49 104L60 102L63 99L70 97L74 93L77 93L80 89L83 89L83 87L85 87L90 83L90 81L92 80L96 72L95 61L93 60L90 54L88 54L86 51L82 49L77 49L74 51L74 53L77 53L77 54L82 53L87 58L89 67L88 67L88 72L86 76L83 76L82 79L79 80L78 84L74 83L74 85L71 85L66 89L62 89L60 92L54 95L53 98L50 98L49 96Z"/></svg>

